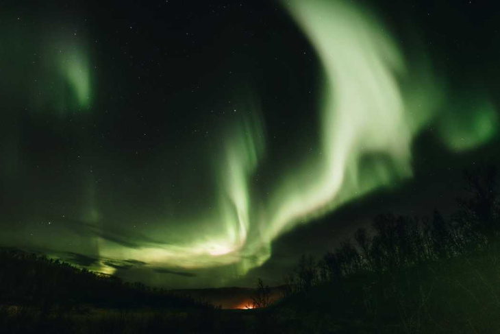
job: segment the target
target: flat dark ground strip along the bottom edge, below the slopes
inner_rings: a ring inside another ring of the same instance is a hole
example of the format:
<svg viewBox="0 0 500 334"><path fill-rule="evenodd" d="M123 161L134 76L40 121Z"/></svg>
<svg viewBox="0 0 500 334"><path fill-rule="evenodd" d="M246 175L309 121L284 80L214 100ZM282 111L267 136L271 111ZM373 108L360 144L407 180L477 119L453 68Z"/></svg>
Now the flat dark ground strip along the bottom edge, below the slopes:
<svg viewBox="0 0 500 334"><path fill-rule="evenodd" d="M405 333L399 326L377 328L292 309L82 309L41 315L29 308L2 307L0 312L1 333Z"/></svg>

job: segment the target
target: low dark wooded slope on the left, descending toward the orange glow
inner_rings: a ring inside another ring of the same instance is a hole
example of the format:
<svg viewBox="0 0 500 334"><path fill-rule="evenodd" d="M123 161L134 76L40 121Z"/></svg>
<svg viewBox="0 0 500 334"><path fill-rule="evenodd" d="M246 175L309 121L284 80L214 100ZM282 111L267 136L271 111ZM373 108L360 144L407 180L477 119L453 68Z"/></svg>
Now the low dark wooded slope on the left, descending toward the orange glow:
<svg viewBox="0 0 500 334"><path fill-rule="evenodd" d="M0 305L30 306L42 313L97 307L210 308L200 300L166 289L128 283L117 276L16 249L0 250Z"/></svg>

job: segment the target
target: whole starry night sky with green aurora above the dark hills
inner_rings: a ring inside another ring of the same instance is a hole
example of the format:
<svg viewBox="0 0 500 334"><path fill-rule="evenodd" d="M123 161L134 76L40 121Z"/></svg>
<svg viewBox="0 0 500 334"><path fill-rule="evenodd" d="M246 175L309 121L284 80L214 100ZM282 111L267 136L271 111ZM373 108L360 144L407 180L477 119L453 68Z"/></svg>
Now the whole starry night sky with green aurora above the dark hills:
<svg viewBox="0 0 500 334"><path fill-rule="evenodd" d="M401 3L395 3L401 2ZM497 164L484 1L0 1L0 246L168 288L279 284Z"/></svg>

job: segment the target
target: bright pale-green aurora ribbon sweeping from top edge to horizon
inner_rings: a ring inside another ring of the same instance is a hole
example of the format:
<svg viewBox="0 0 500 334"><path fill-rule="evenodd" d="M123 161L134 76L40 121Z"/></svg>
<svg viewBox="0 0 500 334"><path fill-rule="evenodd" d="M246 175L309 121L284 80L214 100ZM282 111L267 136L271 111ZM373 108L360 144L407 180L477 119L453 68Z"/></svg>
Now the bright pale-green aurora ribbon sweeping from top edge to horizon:
<svg viewBox="0 0 500 334"><path fill-rule="evenodd" d="M116 249L103 242L101 256L186 269L236 263L239 273L245 274L270 257L271 242L286 230L378 187L411 177L412 139L436 118L444 141L454 150L475 147L495 134L496 114L487 101L482 102L486 107L472 111L472 123L456 123L460 120L452 115L438 115L440 99L446 103L446 96L436 97L440 93L434 82L418 82L415 77L412 85L426 86L404 93L398 77L412 75L424 65L410 68L382 23L353 4L292 0L284 8L310 38L323 64L323 98L318 110L321 156L287 171L271 201L259 206L252 202L248 182L263 154L264 134L258 121L242 119L229 134L224 157L217 157L223 161L217 195L221 215L214 217L214 223L222 225L220 232L192 237L181 245L140 250ZM418 105L412 104L417 99ZM361 169L360 160L370 154L383 158Z"/></svg>

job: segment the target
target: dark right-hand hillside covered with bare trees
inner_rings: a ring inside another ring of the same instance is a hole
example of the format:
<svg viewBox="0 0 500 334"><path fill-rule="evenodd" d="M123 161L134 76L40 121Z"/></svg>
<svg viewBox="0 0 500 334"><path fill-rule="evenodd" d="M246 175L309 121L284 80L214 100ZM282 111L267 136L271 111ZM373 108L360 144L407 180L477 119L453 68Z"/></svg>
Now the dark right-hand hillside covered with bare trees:
<svg viewBox="0 0 500 334"><path fill-rule="evenodd" d="M383 333L494 333L500 312L497 169L482 165L466 171L464 180L446 217L436 209L427 217L380 214L321 259L304 255L271 308L292 307L299 318L323 314L318 321L325 323L334 316L349 326L371 324L368 331Z"/></svg>

